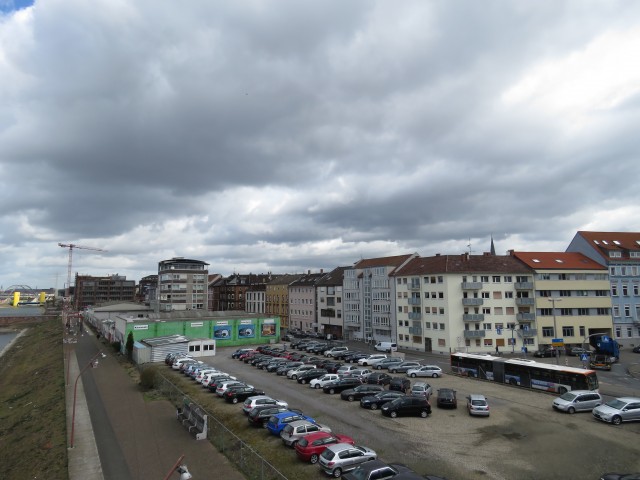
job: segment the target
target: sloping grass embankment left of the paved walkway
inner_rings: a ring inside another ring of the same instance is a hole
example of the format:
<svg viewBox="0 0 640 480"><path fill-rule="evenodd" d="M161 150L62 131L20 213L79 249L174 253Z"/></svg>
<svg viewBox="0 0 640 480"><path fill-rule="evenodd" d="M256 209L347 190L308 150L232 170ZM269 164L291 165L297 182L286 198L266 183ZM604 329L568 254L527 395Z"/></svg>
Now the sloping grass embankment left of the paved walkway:
<svg viewBox="0 0 640 480"><path fill-rule="evenodd" d="M68 478L62 324L34 321L0 358L0 478Z"/></svg>

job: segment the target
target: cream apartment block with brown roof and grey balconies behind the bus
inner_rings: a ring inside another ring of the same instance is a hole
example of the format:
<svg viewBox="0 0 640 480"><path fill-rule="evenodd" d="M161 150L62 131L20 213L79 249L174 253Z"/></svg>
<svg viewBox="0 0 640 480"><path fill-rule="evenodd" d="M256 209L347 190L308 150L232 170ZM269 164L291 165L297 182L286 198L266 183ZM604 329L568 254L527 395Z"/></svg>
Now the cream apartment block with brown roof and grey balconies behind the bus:
<svg viewBox="0 0 640 480"><path fill-rule="evenodd" d="M511 256L415 257L392 277L400 347L493 353L536 346L533 272Z"/></svg>

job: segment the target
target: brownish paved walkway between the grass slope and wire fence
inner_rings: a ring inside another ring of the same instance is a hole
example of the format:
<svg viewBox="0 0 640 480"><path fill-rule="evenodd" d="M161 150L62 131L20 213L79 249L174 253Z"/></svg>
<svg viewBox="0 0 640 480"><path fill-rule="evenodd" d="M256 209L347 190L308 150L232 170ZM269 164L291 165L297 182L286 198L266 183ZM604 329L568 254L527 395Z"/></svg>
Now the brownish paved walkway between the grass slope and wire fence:
<svg viewBox="0 0 640 480"><path fill-rule="evenodd" d="M108 352L106 358L98 358L97 368L89 367L79 377L74 446L68 450L70 480L164 479L182 455L194 479L215 475L225 480L245 480L210 442L195 440L182 427L170 402L145 401L138 385L106 348L94 336L85 334L69 362L70 435L74 382L88 364L82 362L98 349ZM178 474L170 478L177 479Z"/></svg>

